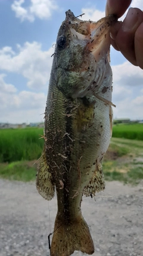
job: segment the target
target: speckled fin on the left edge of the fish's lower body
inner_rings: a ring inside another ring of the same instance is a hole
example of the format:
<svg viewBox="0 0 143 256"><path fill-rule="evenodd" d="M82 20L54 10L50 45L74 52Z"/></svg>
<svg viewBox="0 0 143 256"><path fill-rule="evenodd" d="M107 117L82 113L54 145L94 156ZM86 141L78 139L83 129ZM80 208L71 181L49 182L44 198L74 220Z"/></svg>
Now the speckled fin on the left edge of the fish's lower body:
<svg viewBox="0 0 143 256"><path fill-rule="evenodd" d="M36 177L36 188L40 195L46 200L51 200L55 194L55 184L52 181L52 174L46 162L45 150L41 155L40 166Z"/></svg>

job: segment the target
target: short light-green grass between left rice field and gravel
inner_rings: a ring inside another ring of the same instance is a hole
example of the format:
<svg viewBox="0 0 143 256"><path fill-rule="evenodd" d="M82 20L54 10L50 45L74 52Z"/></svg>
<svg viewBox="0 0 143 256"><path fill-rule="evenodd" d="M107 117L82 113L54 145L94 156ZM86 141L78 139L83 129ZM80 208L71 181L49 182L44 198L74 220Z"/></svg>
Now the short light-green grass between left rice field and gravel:
<svg viewBox="0 0 143 256"><path fill-rule="evenodd" d="M21 180L29 182L36 178L36 167L29 162L11 162L11 164L0 164L0 177L2 179Z"/></svg>

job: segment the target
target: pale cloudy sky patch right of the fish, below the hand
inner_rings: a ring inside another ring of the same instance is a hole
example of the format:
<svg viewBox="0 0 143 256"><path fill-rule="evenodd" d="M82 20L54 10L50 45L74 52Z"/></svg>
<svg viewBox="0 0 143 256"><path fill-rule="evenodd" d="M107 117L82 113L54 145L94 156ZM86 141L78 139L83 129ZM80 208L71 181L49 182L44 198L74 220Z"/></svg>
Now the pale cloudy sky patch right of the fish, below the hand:
<svg viewBox="0 0 143 256"><path fill-rule="evenodd" d="M114 118L143 119L143 73L129 62L112 67Z"/></svg>

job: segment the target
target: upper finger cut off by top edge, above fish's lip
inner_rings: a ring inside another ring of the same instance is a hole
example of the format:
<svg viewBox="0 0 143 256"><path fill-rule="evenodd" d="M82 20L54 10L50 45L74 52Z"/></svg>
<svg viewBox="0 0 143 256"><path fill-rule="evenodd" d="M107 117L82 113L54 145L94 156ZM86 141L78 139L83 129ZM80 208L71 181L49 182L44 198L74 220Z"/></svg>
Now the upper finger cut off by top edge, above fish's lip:
<svg viewBox="0 0 143 256"><path fill-rule="evenodd" d="M107 0L105 13L106 15L116 14L120 18L128 9L131 2L132 0Z"/></svg>

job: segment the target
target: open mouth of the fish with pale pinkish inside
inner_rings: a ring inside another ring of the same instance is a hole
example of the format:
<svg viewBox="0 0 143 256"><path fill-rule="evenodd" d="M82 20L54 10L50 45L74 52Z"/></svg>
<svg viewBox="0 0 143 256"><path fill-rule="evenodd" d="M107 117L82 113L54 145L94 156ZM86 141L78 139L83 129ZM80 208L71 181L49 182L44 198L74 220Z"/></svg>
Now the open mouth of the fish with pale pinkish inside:
<svg viewBox="0 0 143 256"><path fill-rule="evenodd" d="M79 40L88 40L87 49L94 55L95 61L107 55L110 49L110 26L117 22L115 15L106 16L98 22L83 21L74 16L68 10L66 12L66 21L70 25L71 37L76 37ZM108 61L109 55L107 55Z"/></svg>

